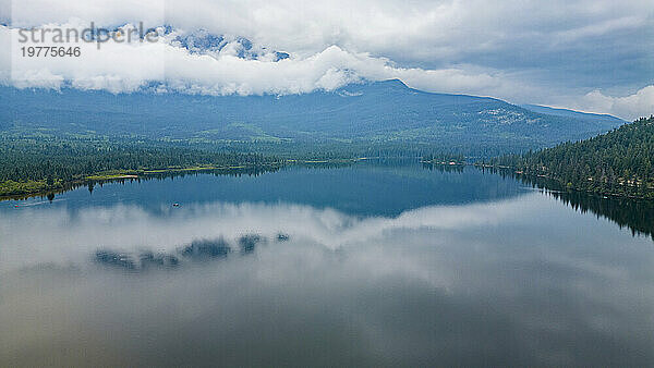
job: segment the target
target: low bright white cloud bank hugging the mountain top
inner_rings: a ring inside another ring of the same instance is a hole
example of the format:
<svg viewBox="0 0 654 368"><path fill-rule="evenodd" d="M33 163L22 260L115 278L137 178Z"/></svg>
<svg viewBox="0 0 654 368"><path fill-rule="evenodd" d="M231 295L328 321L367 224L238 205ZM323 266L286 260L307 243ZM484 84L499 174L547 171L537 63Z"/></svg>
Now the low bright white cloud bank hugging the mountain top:
<svg viewBox="0 0 654 368"><path fill-rule="evenodd" d="M49 25L55 27L53 25ZM83 29L84 24L63 25ZM7 34L12 36L8 37ZM65 44L81 47L81 58L25 58L19 51L15 28L0 28L11 46L11 79L19 87L61 87L70 84L82 89L106 89L112 93L134 91L150 84L165 84L181 91L228 94L301 94L315 89L331 90L361 79L401 78L426 90L483 94L489 88L501 90L507 81L485 73L465 70L422 70L396 66L384 58L356 53L330 46L310 56L291 54L275 61L269 53L240 58L233 44L221 50L191 52L175 41L177 33L157 42ZM59 46L25 44L25 46Z"/></svg>

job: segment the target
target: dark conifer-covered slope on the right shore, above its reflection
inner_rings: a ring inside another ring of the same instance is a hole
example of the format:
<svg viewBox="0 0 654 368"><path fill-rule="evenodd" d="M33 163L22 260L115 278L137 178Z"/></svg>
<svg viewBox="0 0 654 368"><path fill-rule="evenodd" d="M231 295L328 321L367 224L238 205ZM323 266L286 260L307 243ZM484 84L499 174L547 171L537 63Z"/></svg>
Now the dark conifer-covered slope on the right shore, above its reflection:
<svg viewBox="0 0 654 368"><path fill-rule="evenodd" d="M570 189L654 199L654 116L586 140L489 163L548 177Z"/></svg>

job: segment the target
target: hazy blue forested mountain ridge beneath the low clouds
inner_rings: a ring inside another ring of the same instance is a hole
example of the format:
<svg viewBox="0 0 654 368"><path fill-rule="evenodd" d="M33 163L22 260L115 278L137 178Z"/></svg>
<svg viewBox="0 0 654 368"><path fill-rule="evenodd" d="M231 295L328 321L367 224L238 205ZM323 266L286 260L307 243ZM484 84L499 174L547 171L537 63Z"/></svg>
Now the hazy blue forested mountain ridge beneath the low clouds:
<svg viewBox="0 0 654 368"><path fill-rule="evenodd" d="M392 144L497 155L583 139L623 123L545 114L488 97L426 93L397 79L287 96L0 87L0 130L5 132L39 128L44 134L130 135L205 146Z"/></svg>

